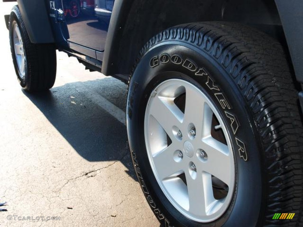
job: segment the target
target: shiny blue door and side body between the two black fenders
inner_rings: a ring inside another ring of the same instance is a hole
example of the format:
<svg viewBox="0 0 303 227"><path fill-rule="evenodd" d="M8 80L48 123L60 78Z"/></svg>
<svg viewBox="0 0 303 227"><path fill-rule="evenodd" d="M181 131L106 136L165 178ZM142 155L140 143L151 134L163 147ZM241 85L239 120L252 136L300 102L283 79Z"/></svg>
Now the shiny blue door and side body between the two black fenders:
<svg viewBox="0 0 303 227"><path fill-rule="evenodd" d="M103 60L114 0L54 0L49 12L59 49ZM58 10L64 12L58 21Z"/></svg>

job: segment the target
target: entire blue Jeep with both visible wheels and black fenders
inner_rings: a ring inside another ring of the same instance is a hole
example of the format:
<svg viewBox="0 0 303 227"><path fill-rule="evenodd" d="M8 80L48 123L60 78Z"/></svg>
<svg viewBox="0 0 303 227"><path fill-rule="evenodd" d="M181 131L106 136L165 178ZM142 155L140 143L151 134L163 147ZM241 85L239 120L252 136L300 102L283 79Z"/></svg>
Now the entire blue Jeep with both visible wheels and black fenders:
<svg viewBox="0 0 303 227"><path fill-rule="evenodd" d="M5 20L25 90L53 86L56 50L128 83L131 156L163 226L303 226L302 10L18 0Z"/></svg>

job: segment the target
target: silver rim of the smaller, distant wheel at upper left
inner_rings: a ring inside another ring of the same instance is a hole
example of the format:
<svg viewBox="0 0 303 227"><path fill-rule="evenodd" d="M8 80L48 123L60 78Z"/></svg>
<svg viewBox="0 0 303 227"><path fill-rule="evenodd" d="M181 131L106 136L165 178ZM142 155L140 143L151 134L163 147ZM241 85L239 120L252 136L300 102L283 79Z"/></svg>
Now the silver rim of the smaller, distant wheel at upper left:
<svg viewBox="0 0 303 227"><path fill-rule="evenodd" d="M26 57L24 52L24 46L23 41L20 33L20 29L18 27L18 24L15 23L14 25L14 49L15 49L15 56L20 72L21 79L24 79L25 77L25 63L26 63Z"/></svg>

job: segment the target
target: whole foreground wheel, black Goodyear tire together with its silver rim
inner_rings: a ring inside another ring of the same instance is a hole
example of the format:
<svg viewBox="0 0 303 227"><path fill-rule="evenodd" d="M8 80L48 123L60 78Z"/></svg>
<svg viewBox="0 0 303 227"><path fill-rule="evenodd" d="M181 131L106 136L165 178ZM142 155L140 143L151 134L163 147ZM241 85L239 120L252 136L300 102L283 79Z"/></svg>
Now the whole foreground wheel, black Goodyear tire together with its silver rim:
<svg viewBox="0 0 303 227"><path fill-rule="evenodd" d="M163 226L302 226L303 130L290 71L277 41L235 23L180 25L144 46L127 131Z"/></svg>

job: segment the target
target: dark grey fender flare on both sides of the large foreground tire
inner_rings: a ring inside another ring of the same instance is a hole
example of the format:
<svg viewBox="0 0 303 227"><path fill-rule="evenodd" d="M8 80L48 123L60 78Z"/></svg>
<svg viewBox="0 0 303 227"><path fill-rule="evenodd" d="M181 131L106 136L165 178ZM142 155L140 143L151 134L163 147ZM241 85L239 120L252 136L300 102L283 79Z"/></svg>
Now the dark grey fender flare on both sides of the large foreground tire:
<svg viewBox="0 0 303 227"><path fill-rule="evenodd" d="M126 21L134 2L135 0L115 1L103 55L102 73L105 75L118 73L118 50ZM303 8L303 1L275 0L275 5L278 9L278 14L285 33L296 79L303 84L303 56L301 54L302 48L300 48L303 46L303 40L298 38L303 36L303 27L301 26L303 16L300 13Z"/></svg>

